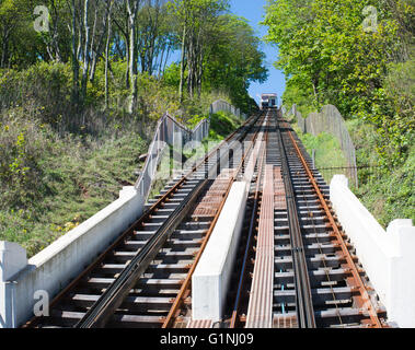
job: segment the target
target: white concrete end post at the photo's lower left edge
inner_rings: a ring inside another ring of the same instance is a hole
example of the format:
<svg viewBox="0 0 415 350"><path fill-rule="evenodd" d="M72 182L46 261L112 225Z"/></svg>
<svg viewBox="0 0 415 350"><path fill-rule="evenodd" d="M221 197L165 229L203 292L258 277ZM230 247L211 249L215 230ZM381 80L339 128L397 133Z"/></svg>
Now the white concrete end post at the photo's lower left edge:
<svg viewBox="0 0 415 350"><path fill-rule="evenodd" d="M26 266L24 248L16 243L0 242L0 328L16 327L13 277Z"/></svg>

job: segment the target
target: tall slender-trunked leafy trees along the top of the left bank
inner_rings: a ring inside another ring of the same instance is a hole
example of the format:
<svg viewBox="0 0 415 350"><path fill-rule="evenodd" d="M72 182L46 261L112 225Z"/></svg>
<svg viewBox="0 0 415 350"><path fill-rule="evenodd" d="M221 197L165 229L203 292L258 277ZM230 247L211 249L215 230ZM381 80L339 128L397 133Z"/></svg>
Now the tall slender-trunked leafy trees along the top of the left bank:
<svg viewBox="0 0 415 350"><path fill-rule="evenodd" d="M48 11L48 31L34 30L36 5ZM181 59L168 69L174 51ZM108 74L124 62L130 113L140 103L139 74L163 81L168 70L181 101L219 90L246 108L250 82L267 74L260 39L245 20L229 14L228 0L2 0L0 69L22 70L36 62L71 67L78 109L89 103L89 85L101 62L109 105Z"/></svg>

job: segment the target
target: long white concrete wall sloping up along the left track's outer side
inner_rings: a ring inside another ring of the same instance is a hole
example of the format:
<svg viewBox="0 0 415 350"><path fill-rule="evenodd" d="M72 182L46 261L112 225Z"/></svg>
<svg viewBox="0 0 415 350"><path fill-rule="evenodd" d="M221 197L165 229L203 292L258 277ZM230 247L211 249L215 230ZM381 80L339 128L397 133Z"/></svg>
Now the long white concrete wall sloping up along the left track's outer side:
<svg viewBox="0 0 415 350"><path fill-rule="evenodd" d="M0 267L0 271L10 271L11 267L13 272L13 276L8 272L3 281L9 290L0 285L0 328L11 327L11 314L15 315L18 326L32 318L33 307L38 301L34 299L35 292L46 291L51 301L70 279L93 262L100 253L141 215L142 208L143 198L134 187L125 187L118 200L54 242L27 264L15 264L16 259L22 261L23 258L22 248L14 247L16 254L9 254ZM7 246L10 244L7 243ZM14 303L10 291L13 285ZM14 310L13 313L10 312L11 308Z"/></svg>

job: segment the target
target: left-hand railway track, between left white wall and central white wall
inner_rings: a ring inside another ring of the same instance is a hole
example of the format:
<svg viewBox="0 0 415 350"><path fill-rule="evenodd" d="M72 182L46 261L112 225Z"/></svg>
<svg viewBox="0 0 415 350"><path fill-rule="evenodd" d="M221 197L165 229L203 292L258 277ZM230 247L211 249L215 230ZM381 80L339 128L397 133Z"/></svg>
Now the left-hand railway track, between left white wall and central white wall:
<svg viewBox="0 0 415 350"><path fill-rule="evenodd" d="M181 327L192 273L263 120L263 115L252 117L169 183L145 214L54 299L50 315L24 327ZM251 145L241 150L242 159L232 160L228 145L246 141Z"/></svg>

